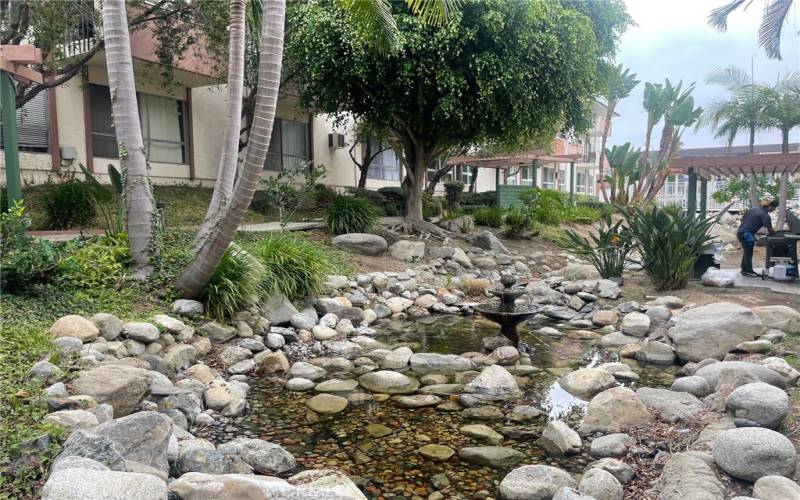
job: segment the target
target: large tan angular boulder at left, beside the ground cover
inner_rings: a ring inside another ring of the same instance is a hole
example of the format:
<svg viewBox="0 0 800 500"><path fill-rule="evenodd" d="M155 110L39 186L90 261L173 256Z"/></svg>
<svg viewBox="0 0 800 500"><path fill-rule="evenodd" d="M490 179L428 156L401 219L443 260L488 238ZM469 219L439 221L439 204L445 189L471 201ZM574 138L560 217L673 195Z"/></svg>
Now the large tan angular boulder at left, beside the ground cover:
<svg viewBox="0 0 800 500"><path fill-rule="evenodd" d="M150 372L124 365L103 365L79 373L72 381L77 394L114 407L114 415L130 415L150 389Z"/></svg>

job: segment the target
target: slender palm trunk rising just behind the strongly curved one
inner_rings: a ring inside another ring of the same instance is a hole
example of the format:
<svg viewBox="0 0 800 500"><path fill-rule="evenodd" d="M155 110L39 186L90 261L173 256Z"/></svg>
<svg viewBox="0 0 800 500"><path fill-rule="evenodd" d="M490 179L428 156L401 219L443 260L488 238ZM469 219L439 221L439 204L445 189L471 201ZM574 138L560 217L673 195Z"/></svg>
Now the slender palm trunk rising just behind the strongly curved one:
<svg viewBox="0 0 800 500"><path fill-rule="evenodd" d="M217 182L206 212L200 238L208 233L221 207L228 204L239 166L239 136L242 129L242 94L244 92L245 0L230 0L230 41L228 49L228 117L219 158Z"/></svg>

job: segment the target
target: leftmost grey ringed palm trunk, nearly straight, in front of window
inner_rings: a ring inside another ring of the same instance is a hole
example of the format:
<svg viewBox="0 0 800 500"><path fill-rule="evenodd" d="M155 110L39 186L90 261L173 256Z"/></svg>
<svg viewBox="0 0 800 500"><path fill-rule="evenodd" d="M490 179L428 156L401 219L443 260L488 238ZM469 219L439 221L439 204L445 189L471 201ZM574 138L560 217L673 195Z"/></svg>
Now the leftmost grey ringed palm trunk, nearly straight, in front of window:
<svg viewBox="0 0 800 500"><path fill-rule="evenodd" d="M120 167L126 181L128 251L136 269L141 271L149 264L153 197L150 179L147 176L142 129L139 125L128 16L124 0L103 2L103 37Z"/></svg>

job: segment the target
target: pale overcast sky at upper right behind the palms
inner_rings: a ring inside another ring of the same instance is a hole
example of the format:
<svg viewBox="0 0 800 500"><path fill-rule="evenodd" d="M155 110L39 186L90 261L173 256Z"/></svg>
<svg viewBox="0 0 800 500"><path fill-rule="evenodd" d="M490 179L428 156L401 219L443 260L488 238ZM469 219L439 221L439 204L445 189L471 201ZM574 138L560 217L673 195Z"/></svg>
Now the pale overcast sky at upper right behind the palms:
<svg viewBox="0 0 800 500"><path fill-rule="evenodd" d="M758 26L763 5L767 0L754 0L749 9L737 11L728 18L728 31L719 33L706 23L709 12L728 0L625 0L628 12L638 26L623 35L617 62L629 67L642 82L697 82L695 104L706 107L726 93L719 87L707 85L705 78L717 66L735 64L750 71L751 58L756 81L774 83L787 71L800 71L800 2L795 2L784 26L781 43L782 61L767 59L758 47ZM610 144L631 142L635 147L644 143L646 115L642 109L644 83L622 101L612 122ZM660 126L654 131L657 144ZM800 128L790 137L800 142ZM780 143L780 132L759 134L756 144ZM737 137L736 145L747 144L746 135ZM688 130L683 137L684 147L724 146L724 139L715 139L709 129Z"/></svg>

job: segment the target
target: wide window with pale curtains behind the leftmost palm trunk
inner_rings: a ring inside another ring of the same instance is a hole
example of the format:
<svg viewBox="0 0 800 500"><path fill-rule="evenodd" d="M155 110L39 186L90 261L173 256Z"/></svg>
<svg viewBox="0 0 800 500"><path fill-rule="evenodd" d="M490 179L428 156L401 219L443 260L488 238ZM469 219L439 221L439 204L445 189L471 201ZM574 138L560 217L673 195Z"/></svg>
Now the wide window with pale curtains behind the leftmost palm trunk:
<svg viewBox="0 0 800 500"><path fill-rule="evenodd" d="M138 94L139 120L147 160L157 163L186 163L186 103L167 97ZM117 135L108 87L89 85L94 156L116 158Z"/></svg>

